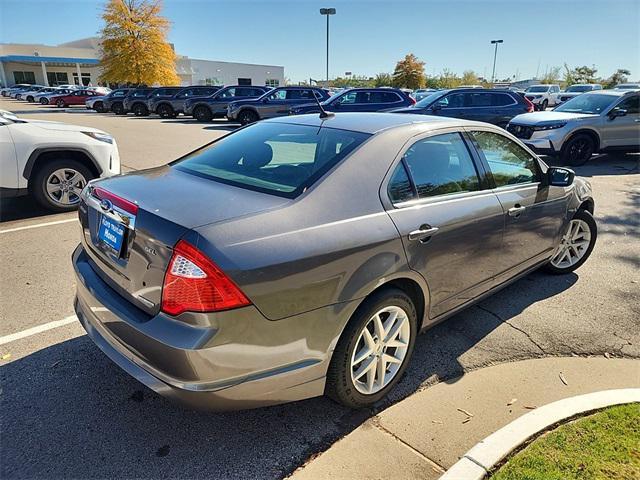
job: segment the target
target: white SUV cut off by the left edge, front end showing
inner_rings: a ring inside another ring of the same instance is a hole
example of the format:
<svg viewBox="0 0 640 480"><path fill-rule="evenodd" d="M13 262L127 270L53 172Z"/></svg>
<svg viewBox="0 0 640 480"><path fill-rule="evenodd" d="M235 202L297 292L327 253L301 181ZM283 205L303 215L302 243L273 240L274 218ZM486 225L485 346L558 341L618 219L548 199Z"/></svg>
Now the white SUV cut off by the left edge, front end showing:
<svg viewBox="0 0 640 480"><path fill-rule="evenodd" d="M89 180L119 173L108 133L0 110L0 196L31 194L43 207L66 212L78 206Z"/></svg>

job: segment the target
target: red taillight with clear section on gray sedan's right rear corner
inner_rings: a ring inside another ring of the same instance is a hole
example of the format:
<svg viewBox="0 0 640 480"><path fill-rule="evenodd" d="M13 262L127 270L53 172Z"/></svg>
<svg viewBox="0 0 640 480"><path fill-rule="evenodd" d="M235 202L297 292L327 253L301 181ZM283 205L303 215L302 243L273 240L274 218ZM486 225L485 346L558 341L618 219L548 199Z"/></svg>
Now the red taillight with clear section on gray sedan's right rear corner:
<svg viewBox="0 0 640 480"><path fill-rule="evenodd" d="M250 304L204 253L184 240L176 244L162 286L163 312L217 312Z"/></svg>

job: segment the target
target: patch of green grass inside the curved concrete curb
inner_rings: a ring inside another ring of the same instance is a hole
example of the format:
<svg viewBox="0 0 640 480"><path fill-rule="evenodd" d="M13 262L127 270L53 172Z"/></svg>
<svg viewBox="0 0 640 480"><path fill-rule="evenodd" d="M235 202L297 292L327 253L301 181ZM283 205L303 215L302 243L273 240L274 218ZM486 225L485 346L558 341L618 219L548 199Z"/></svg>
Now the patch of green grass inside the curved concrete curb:
<svg viewBox="0 0 640 480"><path fill-rule="evenodd" d="M567 423L511 457L491 480L639 480L640 404Z"/></svg>

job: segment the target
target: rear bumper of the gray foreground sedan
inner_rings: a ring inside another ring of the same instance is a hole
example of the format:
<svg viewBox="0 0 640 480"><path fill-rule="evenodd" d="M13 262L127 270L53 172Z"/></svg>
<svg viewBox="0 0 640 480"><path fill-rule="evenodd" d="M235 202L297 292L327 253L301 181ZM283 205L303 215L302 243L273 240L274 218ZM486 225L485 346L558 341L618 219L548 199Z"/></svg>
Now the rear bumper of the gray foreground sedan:
<svg viewBox="0 0 640 480"><path fill-rule="evenodd" d="M82 246L73 265L75 310L89 337L160 395L190 408L236 410L324 393L343 318L336 306L279 321L250 306L203 314L210 324L195 326L137 309L98 276Z"/></svg>

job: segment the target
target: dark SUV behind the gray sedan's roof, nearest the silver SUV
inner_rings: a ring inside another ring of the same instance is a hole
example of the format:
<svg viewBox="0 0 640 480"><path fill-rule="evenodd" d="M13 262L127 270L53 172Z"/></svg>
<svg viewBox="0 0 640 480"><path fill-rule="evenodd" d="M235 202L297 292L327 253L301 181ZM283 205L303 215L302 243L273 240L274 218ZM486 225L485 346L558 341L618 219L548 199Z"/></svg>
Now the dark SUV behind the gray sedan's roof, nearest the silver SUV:
<svg viewBox="0 0 640 480"><path fill-rule="evenodd" d="M456 88L440 90L413 107L393 110L396 113L419 113L441 117L464 118L506 127L516 115L533 112L533 104L509 90Z"/></svg>

